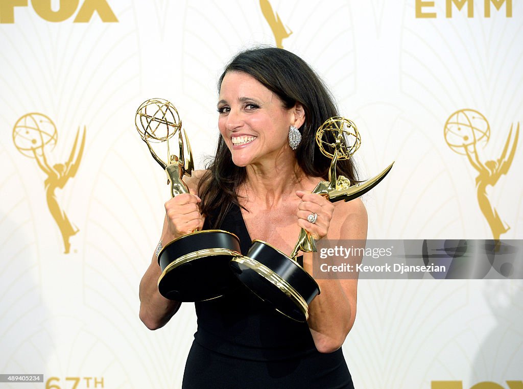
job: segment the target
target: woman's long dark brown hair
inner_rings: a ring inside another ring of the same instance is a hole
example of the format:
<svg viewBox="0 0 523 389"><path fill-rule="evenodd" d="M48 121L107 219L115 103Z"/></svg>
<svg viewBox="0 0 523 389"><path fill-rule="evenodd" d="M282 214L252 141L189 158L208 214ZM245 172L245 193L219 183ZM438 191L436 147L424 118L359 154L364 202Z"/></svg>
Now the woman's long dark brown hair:
<svg viewBox="0 0 523 389"><path fill-rule="evenodd" d="M229 72L251 75L276 94L287 109L294 107L296 102L303 106L305 122L299 128L302 140L295 151L296 159L306 175L327 180L331 159L320 152L314 137L323 122L338 116L338 112L331 93L312 68L290 51L257 48L237 54L225 66L218 81L218 91L223 78ZM330 141L334 142L334 137ZM239 205L237 190L246 179L246 170L245 167L234 165L231 152L221 136L216 155L207 169L198 187L202 199L201 213L212 216L210 226L217 228L231 204ZM351 182L357 180L356 170L350 159L338 161L336 171Z"/></svg>

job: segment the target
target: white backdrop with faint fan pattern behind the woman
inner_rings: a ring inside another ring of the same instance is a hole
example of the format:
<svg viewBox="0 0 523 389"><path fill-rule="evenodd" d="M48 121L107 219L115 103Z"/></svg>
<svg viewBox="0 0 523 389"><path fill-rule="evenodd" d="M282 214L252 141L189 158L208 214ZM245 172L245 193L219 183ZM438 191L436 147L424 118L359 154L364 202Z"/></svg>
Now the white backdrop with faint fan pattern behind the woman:
<svg viewBox="0 0 523 389"><path fill-rule="evenodd" d="M157 331L138 318L138 286L168 188L134 113L149 98L172 101L202 168L218 139L224 65L241 49L275 43L261 12L268 2L108 0L117 22L97 12L73 22L77 11L53 22L29 1L6 22L12 3L0 2L0 373L43 373L61 388L73 387L67 377L78 377L78 388L180 387L194 305ZM89 3L105 2L77 8ZM506 0L498 10L487 1L485 17L476 1L468 17L467 6L448 3L452 17L444 0L270 2L292 31L283 47L311 64L340 113L358 124L362 176L396 161L363 197L369 238L492 238L476 171L447 146L444 128L457 110L481 112L491 129L478 150L486 160L501 155L510 125L523 122L523 5ZM416 6L435 17L416 17ZM77 174L55 192L79 230L69 254L46 202L46 175L13 141L15 123L30 112L56 125L51 165L67 160L77 129L86 128ZM523 238L518 145L508 173L488 189L510 226L506 239ZM506 382L523 380L520 280L365 280L358 291L343 346L356 387L521 387Z"/></svg>

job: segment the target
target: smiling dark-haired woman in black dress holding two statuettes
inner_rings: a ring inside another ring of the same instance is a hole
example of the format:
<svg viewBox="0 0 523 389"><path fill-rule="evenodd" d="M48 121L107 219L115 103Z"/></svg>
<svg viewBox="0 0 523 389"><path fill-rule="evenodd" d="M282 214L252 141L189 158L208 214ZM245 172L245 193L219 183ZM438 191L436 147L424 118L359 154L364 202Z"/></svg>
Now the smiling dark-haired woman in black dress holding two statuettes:
<svg viewBox="0 0 523 389"><path fill-rule="evenodd" d="M311 193L331 166L314 135L337 110L309 65L283 49L248 50L225 67L218 89L215 158L188 180L191 194L165 204L162 241L197 227L220 228L240 238L245 254L252 239L290 253L301 228L315 239L366 239L359 199L333 204ZM289 131L302 137L295 150ZM350 159L336 170L356 181ZM311 253L299 263L312 273ZM153 256L140 284L140 317L151 329L165 325L180 305L158 293L159 275ZM183 387L353 387L340 347L356 317L357 280L317 283L321 294L306 323L276 312L240 283L227 295L195 303L198 330Z"/></svg>

